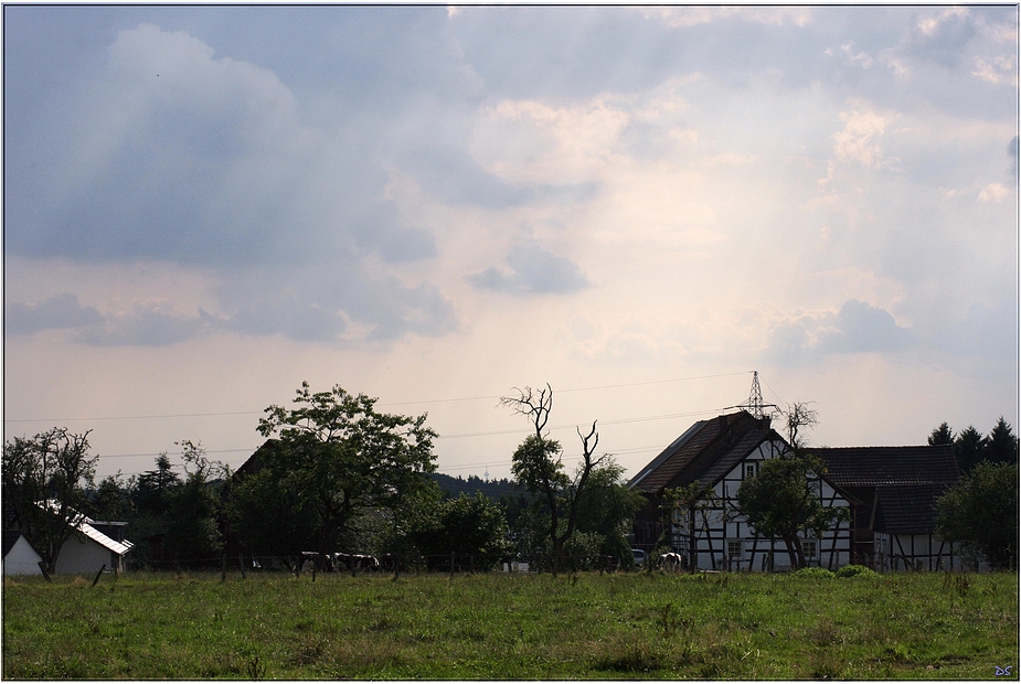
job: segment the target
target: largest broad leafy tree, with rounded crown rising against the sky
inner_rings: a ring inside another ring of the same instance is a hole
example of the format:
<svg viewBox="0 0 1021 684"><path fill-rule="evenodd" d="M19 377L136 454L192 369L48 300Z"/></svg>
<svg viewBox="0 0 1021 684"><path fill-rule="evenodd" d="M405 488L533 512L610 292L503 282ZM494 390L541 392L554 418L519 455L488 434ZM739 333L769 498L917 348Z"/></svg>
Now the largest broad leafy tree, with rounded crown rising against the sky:
<svg viewBox="0 0 1021 684"><path fill-rule="evenodd" d="M251 512L251 494L256 491L275 492L274 504L286 510L285 521L310 531L315 548L322 553L333 551L360 512L400 510L404 500L430 485L426 475L436 468L436 432L425 426L425 414L382 414L375 410L376 400L351 395L339 385L313 394L301 383L296 408L267 408L258 431L278 435L279 442L265 453L265 474L238 488L247 490L242 493L249 505L235 510ZM244 515L240 522L244 534ZM278 537L287 532L277 531Z"/></svg>

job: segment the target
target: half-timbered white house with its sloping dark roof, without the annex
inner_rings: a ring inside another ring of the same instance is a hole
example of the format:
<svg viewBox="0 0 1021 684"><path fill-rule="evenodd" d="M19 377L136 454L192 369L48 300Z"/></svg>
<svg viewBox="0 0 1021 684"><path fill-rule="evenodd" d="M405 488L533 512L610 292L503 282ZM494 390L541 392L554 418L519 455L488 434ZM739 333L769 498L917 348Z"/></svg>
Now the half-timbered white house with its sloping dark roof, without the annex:
<svg viewBox="0 0 1021 684"><path fill-rule="evenodd" d="M699 569L789 568L784 542L757 536L736 506L741 483L755 477L764 461L788 451L769 418L755 418L747 412L694 424L629 482L649 502L636 520L636 546L652 552L664 539L689 567L694 564ZM663 520L663 490L695 481L711 487L713 495L693 507L674 510ZM815 478L811 487L825 506L850 507L847 496L826 479ZM805 536L806 562L830 569L848 565L851 538L849 523L837 524L821 538Z"/></svg>

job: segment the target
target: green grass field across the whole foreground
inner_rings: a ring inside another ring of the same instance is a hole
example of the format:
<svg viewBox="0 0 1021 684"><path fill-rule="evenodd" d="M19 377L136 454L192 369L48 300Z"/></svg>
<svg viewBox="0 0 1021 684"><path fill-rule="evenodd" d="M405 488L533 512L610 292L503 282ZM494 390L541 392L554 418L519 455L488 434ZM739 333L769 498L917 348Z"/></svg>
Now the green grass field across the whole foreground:
<svg viewBox="0 0 1021 684"><path fill-rule="evenodd" d="M1017 680L1019 672L1015 574L92 579L4 583L4 678Z"/></svg>

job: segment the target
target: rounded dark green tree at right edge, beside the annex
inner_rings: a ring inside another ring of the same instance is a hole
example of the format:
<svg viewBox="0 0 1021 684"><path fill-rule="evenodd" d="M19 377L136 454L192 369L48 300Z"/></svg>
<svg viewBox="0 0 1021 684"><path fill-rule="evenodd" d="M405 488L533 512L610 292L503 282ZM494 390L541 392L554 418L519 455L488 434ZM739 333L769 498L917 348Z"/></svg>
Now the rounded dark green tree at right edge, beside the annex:
<svg viewBox="0 0 1021 684"><path fill-rule="evenodd" d="M978 463L936 502L936 534L1007 566L1018 554L1018 464Z"/></svg>

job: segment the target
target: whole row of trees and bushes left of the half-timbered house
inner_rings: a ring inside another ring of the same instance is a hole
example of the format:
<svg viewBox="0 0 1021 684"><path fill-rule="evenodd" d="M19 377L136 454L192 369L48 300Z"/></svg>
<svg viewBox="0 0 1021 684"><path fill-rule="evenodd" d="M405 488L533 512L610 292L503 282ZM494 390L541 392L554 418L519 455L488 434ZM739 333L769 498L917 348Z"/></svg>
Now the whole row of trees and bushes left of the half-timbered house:
<svg viewBox="0 0 1021 684"><path fill-rule="evenodd" d="M547 414L552 389L546 400ZM267 440L238 472L184 440L176 442L182 472L163 452L152 470L96 482L88 431L14 438L3 448L4 528L22 531L49 571L82 515L127 522L136 567L215 564L228 547L284 557L543 554L556 559L554 569L566 555L631 562L627 535L642 500L613 457L588 452L568 474L560 443L539 430L513 456L511 492L453 496L434 478L437 435L426 415L381 413L375 404L302 383L291 406L265 410L257 429ZM594 451L595 424L588 439ZM39 505L47 500L59 507Z"/></svg>

